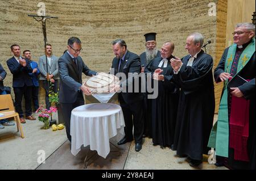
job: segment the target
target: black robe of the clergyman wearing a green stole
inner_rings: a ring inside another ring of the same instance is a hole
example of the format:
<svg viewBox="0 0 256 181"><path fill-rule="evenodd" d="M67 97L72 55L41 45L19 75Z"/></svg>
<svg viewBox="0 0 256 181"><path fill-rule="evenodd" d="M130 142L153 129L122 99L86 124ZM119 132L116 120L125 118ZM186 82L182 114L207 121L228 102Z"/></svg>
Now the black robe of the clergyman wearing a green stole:
<svg viewBox="0 0 256 181"><path fill-rule="evenodd" d="M255 40L254 40L255 41ZM251 41L249 41L251 43ZM246 46L249 44L246 43L243 45L242 51L246 48ZM214 70L214 78L216 82L220 82L220 74L225 71L225 61L226 57L228 55L229 47L224 50L224 53L222 54L221 60ZM255 50L255 49L254 49ZM237 49L238 51L238 49ZM237 52L236 51L236 52ZM241 54L240 54L241 55ZM239 59L239 57L237 57ZM229 158L227 162L225 162L225 165L228 166L230 169L252 169L255 170L255 52L253 53L253 56L251 56L249 62L242 68L242 70L238 73L242 78L250 80L247 83L244 83L243 85L239 86L238 88L243 93L243 98L246 100L250 100L250 108L249 108L249 137L247 140L247 151L249 154L250 162L244 162L244 161L237 161L234 159L234 150L232 148L229 148ZM231 102L228 99L228 107L230 109Z"/></svg>

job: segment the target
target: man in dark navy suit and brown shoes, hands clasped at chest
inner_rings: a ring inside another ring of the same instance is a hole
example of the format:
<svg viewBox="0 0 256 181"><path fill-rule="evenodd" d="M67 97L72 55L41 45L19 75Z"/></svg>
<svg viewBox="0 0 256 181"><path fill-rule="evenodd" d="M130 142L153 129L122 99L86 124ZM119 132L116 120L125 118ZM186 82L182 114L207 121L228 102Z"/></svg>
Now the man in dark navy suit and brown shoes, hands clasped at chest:
<svg viewBox="0 0 256 181"><path fill-rule="evenodd" d="M11 45L11 52L14 56L7 60L7 65L13 74L13 90L15 95L15 110L19 113L20 123L26 123L23 118L22 96L25 98L26 119L36 120L31 110L32 73L30 62L20 56L20 47L17 44Z"/></svg>

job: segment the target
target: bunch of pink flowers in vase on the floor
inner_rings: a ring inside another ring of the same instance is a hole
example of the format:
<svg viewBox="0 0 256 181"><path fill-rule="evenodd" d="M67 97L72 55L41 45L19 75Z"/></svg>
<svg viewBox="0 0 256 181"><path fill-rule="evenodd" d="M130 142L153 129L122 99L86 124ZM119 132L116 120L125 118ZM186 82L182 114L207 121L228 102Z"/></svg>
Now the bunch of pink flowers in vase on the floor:
<svg viewBox="0 0 256 181"><path fill-rule="evenodd" d="M52 112L56 112L56 111L57 111L56 107L50 107L49 110L39 107L38 110L36 110L36 112L39 113L38 115L39 121L42 121L44 123L43 129L49 128L49 117L52 115Z"/></svg>

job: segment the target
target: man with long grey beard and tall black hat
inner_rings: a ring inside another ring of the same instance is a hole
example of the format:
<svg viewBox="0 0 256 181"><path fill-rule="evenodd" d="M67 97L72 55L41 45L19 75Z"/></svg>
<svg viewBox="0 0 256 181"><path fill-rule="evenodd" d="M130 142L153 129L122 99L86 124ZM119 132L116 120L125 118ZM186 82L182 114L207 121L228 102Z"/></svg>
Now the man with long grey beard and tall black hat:
<svg viewBox="0 0 256 181"><path fill-rule="evenodd" d="M161 53L156 49L156 33L146 33L146 51L139 57L141 58L141 72L144 72L146 66L156 57L161 57ZM151 131L151 99L147 99L148 92L144 94L143 98L143 115L144 115L144 132L143 137L152 137Z"/></svg>

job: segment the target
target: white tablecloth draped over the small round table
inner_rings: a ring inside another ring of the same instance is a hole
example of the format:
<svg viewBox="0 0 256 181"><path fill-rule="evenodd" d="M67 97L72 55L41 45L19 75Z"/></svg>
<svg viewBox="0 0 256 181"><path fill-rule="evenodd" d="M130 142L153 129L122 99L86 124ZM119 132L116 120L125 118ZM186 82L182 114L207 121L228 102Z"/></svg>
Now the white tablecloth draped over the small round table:
<svg viewBox="0 0 256 181"><path fill-rule="evenodd" d="M109 138L123 131L122 108L112 103L86 104L71 112L71 153L76 155L81 145L90 145L103 158L109 154Z"/></svg>

